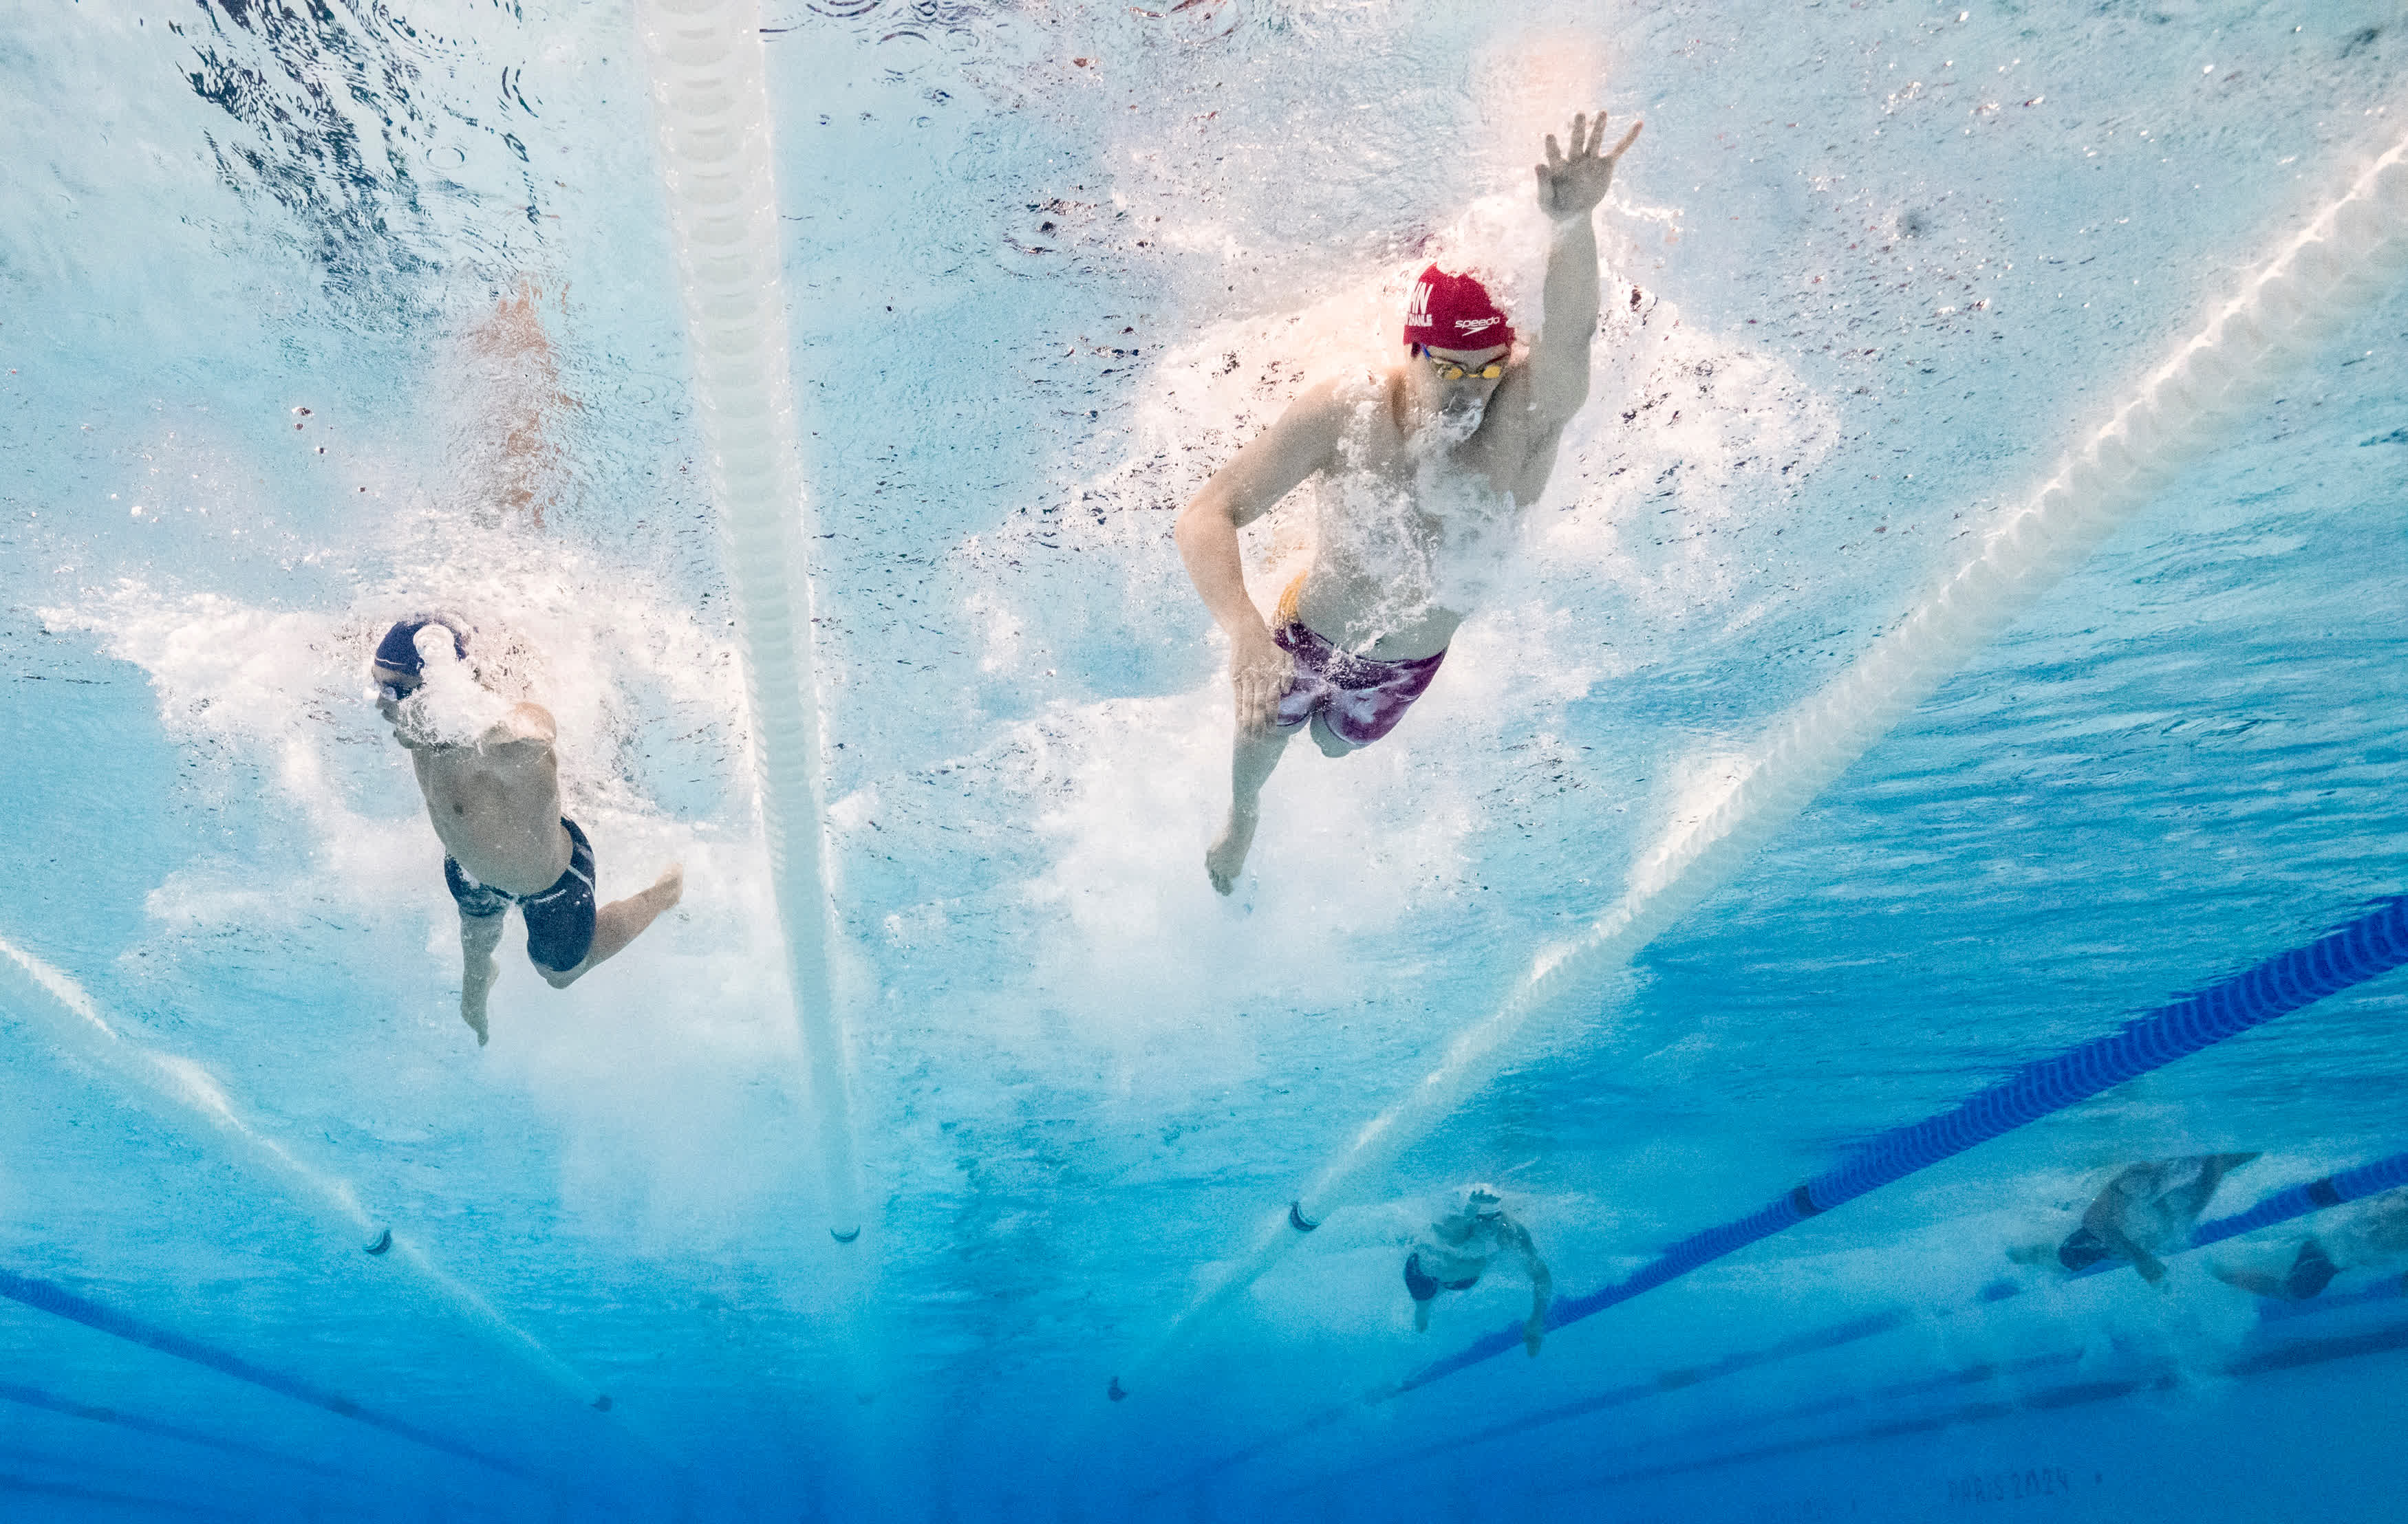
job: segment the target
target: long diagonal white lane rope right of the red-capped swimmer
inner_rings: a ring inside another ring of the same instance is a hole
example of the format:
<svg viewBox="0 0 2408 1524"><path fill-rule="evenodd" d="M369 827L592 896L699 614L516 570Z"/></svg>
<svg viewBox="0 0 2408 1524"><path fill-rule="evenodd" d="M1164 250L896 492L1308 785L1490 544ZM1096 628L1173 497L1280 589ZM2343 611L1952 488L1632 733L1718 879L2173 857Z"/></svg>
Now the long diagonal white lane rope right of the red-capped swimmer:
<svg viewBox="0 0 2408 1524"><path fill-rule="evenodd" d="M2211 308L2047 482L1948 571L1914 609L1823 691L1784 713L1741 766L1736 787L1642 860L1633 886L1584 937L1541 953L1493 1014L1457 1033L1445 1059L1363 1124L1293 1206L1264 1216L1112 1392L1134 1392L1197 1327L1262 1278L1332 1209L1380 1177L1507 1064L1548 1021L1592 1011L1659 932L1722 888L1775 831L1864 756L1941 681L2056 585L2227 429L2408 270L2408 140Z"/></svg>

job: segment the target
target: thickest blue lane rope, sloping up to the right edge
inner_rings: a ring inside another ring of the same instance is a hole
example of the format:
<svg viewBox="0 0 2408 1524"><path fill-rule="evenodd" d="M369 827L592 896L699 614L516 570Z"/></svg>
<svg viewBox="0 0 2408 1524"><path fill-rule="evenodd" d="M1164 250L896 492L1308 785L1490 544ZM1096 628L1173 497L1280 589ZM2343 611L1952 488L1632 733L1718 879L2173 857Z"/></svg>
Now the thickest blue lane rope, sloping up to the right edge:
<svg viewBox="0 0 2408 1524"><path fill-rule="evenodd" d="M1563 1329L1584 1317L1597 1317L1606 1307L1628 1303L1702 1264L1712 1264L1724 1254L1734 1254L1811 1216L1820 1216L1842 1201L1854 1201L1866 1192L1953 1158L1975 1144L1987 1144L2025 1122L2090 1100L2102 1091L2112 1091L2129 1079L2172 1064L2276 1016L2312 1006L2401 963L2408 963L2408 898L2386 900L2338 932L2276 953L2242 975L2199 994L2186 994L2148 1016L2138 1016L2105 1038L2093 1038L2056 1057L2025 1064L1953 1110L1883 1132L1859 1144L1835 1170L1816 1175L1734 1223L1683 1237L1625 1281L1577 1298L1556 1298L1546 1310L1546 1327ZM2239 1228L2239 1233L2247 1233L2247 1228ZM1466 1348L1406 1375L1382 1396L1428 1387L1515 1348L1522 1348L1522 1324L1474 1339Z"/></svg>

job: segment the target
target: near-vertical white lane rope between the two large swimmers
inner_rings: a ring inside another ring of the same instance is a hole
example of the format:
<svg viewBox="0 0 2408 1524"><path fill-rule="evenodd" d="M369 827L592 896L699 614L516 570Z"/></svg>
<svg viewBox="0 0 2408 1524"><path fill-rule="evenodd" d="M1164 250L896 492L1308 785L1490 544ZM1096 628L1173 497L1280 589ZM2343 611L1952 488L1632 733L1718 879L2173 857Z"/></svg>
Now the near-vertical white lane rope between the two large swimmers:
<svg viewBox="0 0 2408 1524"><path fill-rule="evenodd" d="M638 0L694 402L720 508L751 701L761 833L809 1062L828 1233L860 1230L850 1062L828 977L826 782L811 573L816 518L785 339L778 185L759 0Z"/></svg>

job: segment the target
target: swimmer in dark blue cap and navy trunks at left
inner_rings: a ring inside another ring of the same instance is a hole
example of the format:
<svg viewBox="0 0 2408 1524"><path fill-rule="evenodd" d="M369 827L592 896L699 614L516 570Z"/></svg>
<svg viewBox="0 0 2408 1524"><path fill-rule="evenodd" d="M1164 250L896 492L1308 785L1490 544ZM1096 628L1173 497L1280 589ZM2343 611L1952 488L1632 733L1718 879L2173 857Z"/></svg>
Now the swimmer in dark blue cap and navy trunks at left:
<svg viewBox="0 0 2408 1524"><path fill-rule="evenodd" d="M443 843L443 881L460 905L460 1021L484 1047L484 1004L501 973L494 949L510 905L527 922L527 961L566 990L674 905L686 876L669 864L643 893L595 910L595 852L561 814L551 713L486 691L472 636L458 614L402 619L378 643L371 677L376 710L409 751Z"/></svg>

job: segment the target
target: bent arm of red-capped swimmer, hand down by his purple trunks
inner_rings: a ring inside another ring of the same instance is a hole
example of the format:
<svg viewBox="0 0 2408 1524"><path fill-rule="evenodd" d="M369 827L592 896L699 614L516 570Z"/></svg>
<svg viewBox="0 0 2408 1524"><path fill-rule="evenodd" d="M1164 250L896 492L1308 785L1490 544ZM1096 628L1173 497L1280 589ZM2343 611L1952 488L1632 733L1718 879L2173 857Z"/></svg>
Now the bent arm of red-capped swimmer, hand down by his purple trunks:
<svg viewBox="0 0 2408 1524"><path fill-rule="evenodd" d="M1228 677L1238 693L1238 725L1245 729L1269 727L1296 664L1271 640L1271 628L1245 595L1238 530L1269 513L1298 482L1336 457L1346 417L1348 407L1339 402L1336 383L1324 380L1305 390L1180 510L1175 532L1180 561L1187 563L1197 597L1228 631Z"/></svg>

